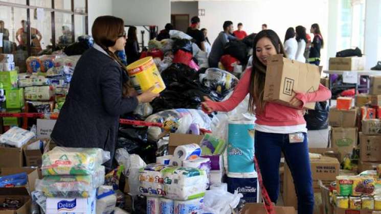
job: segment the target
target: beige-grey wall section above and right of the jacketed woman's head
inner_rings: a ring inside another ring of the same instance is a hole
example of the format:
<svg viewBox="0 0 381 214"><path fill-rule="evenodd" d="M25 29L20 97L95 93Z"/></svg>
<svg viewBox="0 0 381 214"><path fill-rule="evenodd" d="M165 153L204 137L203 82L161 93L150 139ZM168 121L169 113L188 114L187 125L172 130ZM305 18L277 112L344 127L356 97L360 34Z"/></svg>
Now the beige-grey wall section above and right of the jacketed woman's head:
<svg viewBox="0 0 381 214"><path fill-rule="evenodd" d="M113 15L125 25L156 25L164 29L171 22L170 0L113 0Z"/></svg>

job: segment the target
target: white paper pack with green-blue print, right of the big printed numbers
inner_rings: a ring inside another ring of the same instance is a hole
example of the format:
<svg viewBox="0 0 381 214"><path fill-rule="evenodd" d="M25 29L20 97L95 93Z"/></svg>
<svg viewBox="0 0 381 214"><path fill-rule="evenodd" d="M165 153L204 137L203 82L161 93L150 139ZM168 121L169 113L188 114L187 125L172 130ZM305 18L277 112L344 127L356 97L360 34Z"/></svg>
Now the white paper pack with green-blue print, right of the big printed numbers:
<svg viewBox="0 0 381 214"><path fill-rule="evenodd" d="M205 195L207 175L204 170L169 167L162 173L166 198L185 201Z"/></svg>

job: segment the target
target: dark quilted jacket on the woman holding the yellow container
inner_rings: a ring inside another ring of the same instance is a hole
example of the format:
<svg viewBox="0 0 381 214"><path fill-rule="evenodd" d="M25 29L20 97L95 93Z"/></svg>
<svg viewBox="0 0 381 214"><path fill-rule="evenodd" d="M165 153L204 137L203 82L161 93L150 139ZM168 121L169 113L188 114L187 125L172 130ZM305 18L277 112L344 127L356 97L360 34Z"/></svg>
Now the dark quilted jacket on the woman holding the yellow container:
<svg viewBox="0 0 381 214"><path fill-rule="evenodd" d="M114 159L119 116L138 106L137 98L122 97L122 83L128 76L114 59L96 50L87 50L79 59L68 96L60 111L51 138L58 146L101 148Z"/></svg>

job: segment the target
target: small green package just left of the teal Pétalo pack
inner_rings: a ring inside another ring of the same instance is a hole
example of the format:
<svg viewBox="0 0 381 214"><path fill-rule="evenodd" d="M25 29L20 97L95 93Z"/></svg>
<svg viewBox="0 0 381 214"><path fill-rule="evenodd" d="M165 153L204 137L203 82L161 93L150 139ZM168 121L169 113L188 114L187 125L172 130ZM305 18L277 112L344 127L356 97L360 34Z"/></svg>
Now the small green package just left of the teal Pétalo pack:
<svg viewBox="0 0 381 214"><path fill-rule="evenodd" d="M225 150L225 140L218 139L211 134L205 134L203 141L200 144L201 155L217 155L222 154Z"/></svg>

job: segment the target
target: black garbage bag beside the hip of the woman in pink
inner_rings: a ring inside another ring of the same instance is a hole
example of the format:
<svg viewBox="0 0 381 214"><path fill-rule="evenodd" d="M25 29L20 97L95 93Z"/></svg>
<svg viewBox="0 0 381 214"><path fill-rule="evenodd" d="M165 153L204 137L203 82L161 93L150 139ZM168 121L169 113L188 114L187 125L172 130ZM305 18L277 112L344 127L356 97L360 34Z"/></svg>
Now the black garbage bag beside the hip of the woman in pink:
<svg viewBox="0 0 381 214"><path fill-rule="evenodd" d="M308 130L320 130L328 128L328 102L317 102L315 110L308 110L304 115Z"/></svg>

